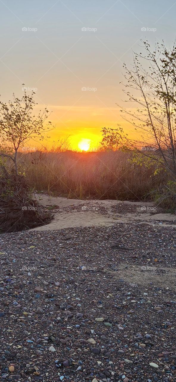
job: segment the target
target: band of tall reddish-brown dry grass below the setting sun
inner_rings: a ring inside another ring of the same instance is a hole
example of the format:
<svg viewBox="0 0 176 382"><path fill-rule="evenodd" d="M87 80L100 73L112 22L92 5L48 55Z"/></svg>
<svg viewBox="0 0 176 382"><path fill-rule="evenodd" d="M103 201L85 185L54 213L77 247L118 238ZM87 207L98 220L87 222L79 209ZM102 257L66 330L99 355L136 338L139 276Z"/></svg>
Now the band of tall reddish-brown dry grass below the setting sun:
<svg viewBox="0 0 176 382"><path fill-rule="evenodd" d="M33 152L19 154L21 172L38 192L73 199L147 200L163 174L130 163L125 152Z"/></svg>

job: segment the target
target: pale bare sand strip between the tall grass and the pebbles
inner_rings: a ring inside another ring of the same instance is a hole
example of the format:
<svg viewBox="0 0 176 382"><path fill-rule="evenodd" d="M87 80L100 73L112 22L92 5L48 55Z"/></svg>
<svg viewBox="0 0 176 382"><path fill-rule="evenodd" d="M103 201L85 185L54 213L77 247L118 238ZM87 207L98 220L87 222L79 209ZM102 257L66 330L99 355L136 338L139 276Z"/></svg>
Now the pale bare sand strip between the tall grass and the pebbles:
<svg viewBox="0 0 176 382"><path fill-rule="evenodd" d="M34 228L37 231L59 230L62 228L110 226L120 222L139 220L141 223L169 225L176 227L175 215L154 213L151 202L129 202L115 200L78 200L64 197L50 197L48 195L36 195L36 199L45 206L53 209L53 220L42 227ZM122 211L124 206L125 212ZM114 207L115 212L112 211ZM120 207L120 211L118 211ZM142 209L142 210L141 210Z"/></svg>

